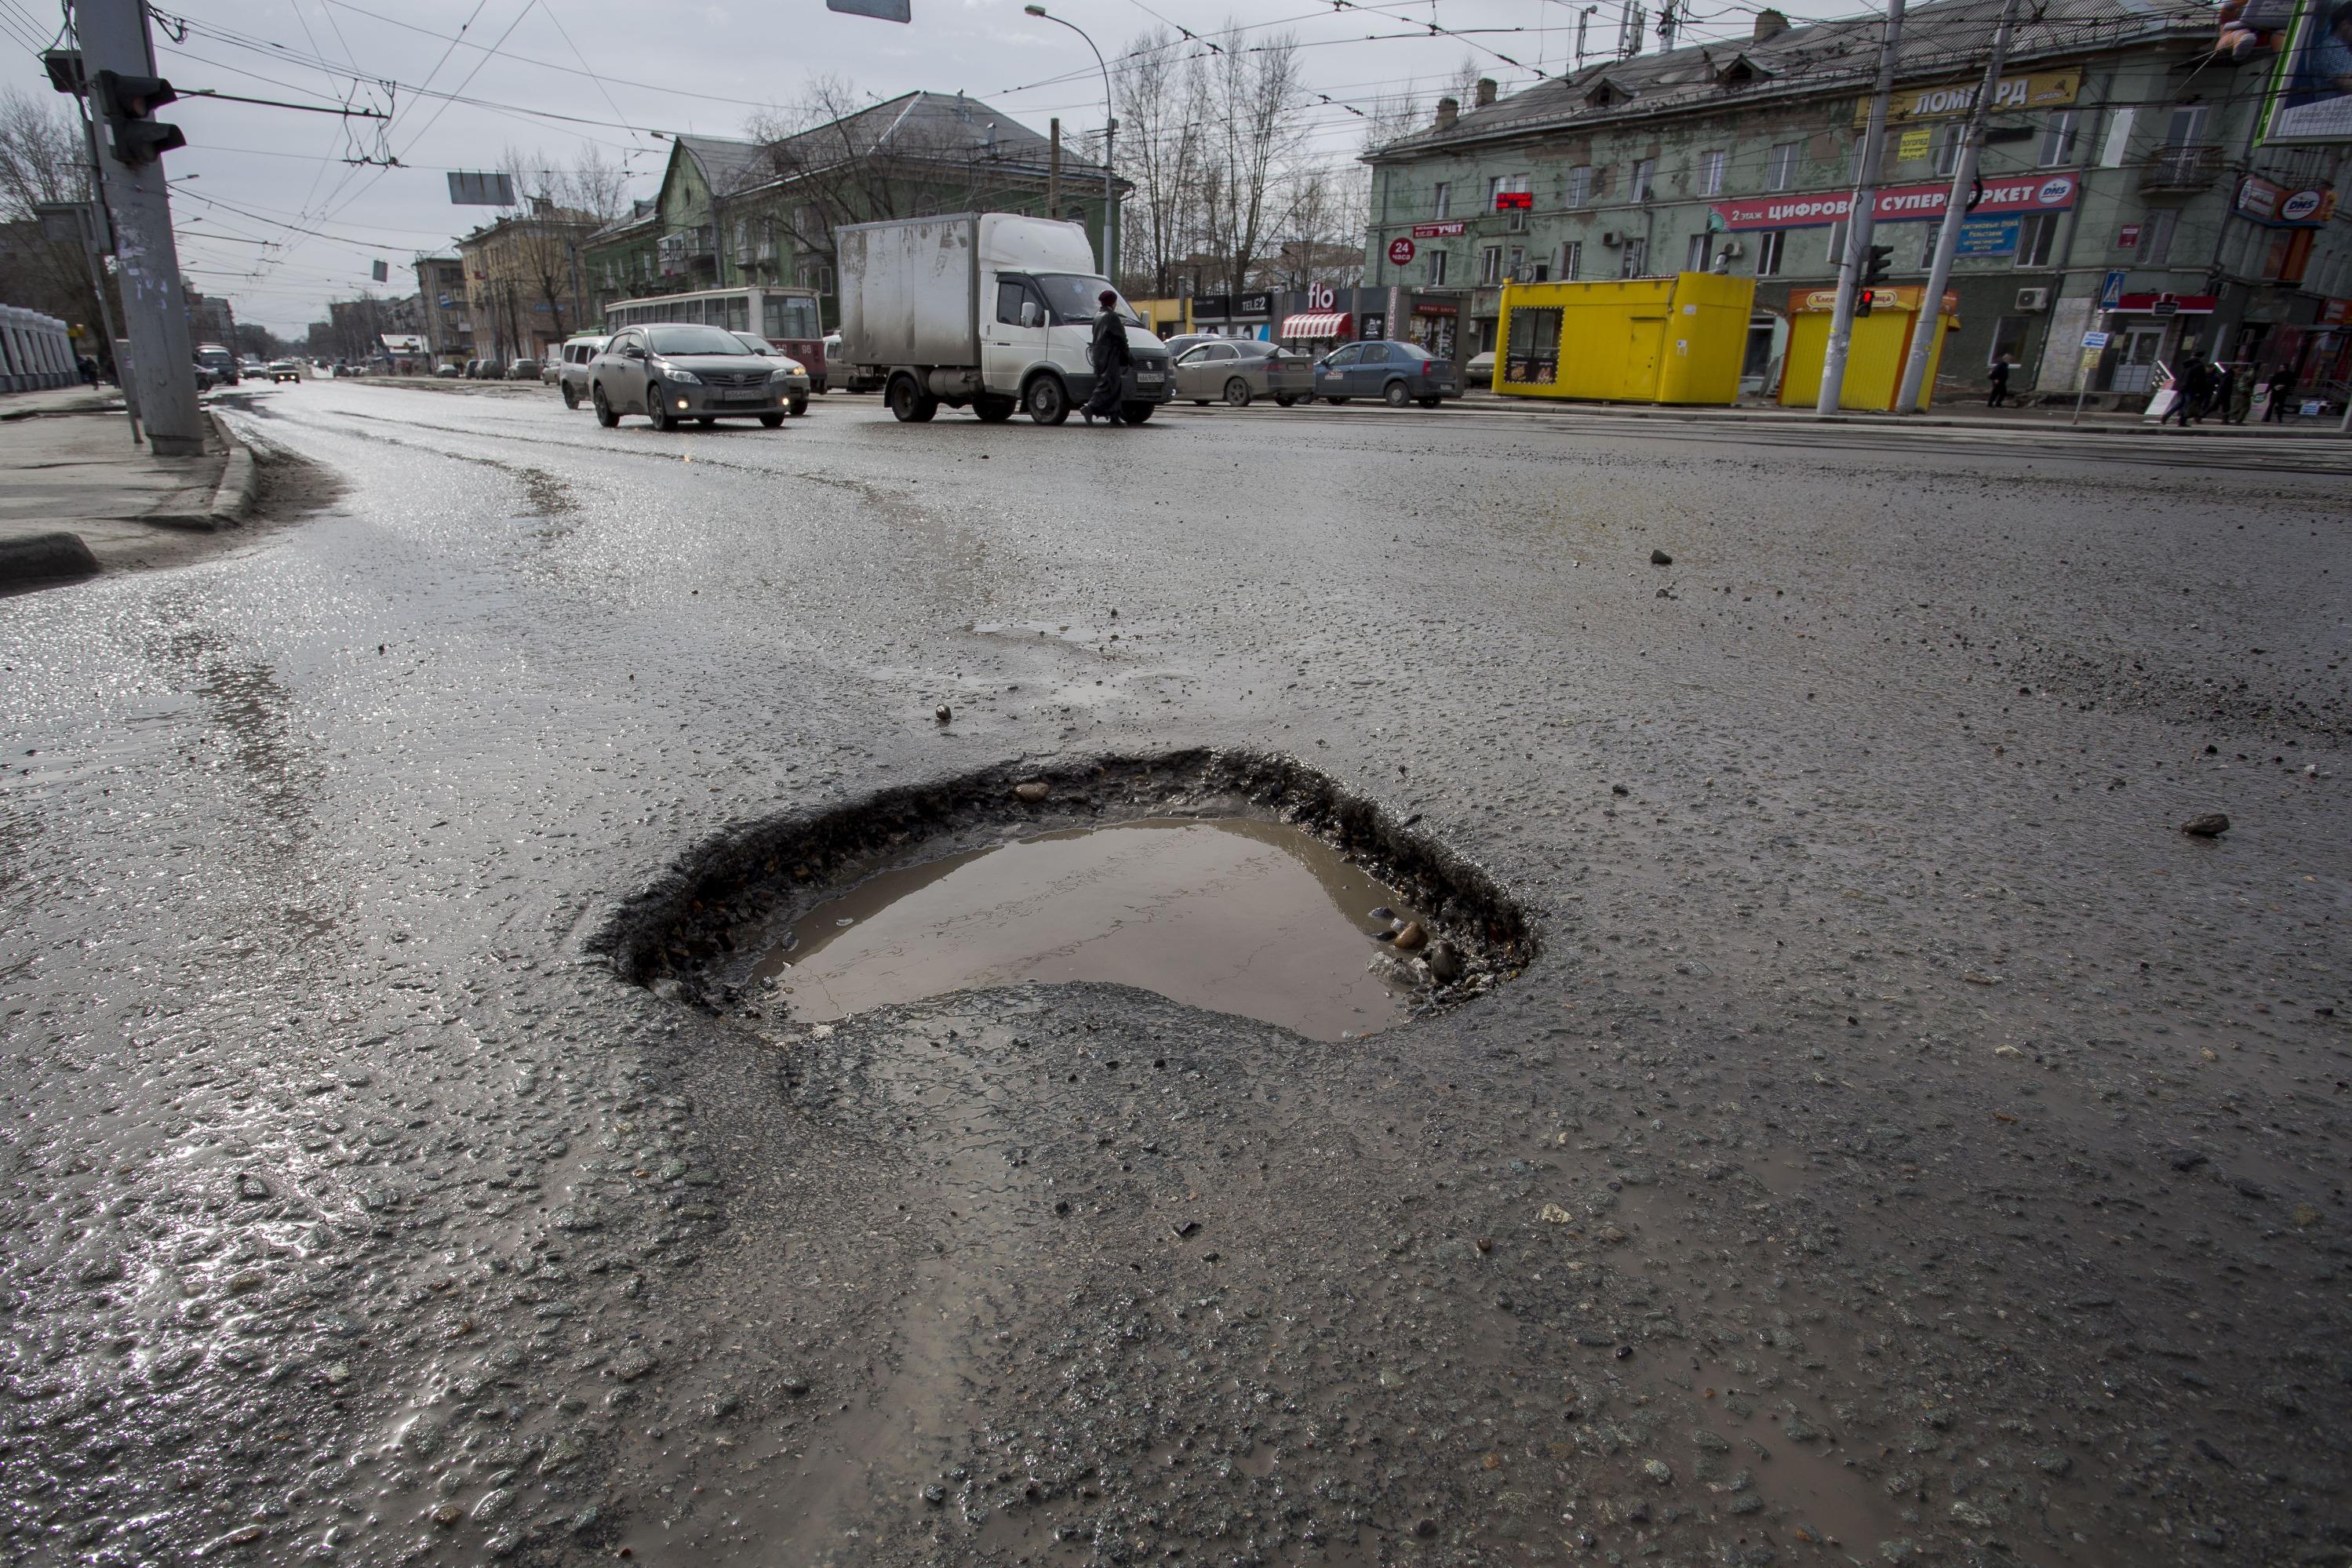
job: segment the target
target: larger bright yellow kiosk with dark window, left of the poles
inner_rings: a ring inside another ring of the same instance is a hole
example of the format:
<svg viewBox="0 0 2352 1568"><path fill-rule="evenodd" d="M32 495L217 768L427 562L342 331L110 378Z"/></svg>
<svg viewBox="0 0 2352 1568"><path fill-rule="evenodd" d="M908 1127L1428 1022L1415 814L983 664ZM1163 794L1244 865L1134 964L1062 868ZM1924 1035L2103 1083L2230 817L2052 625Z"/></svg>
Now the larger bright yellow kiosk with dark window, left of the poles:
<svg viewBox="0 0 2352 1568"><path fill-rule="evenodd" d="M1755 294L1752 277L1722 273L1503 284L1494 390L1729 407Z"/></svg>

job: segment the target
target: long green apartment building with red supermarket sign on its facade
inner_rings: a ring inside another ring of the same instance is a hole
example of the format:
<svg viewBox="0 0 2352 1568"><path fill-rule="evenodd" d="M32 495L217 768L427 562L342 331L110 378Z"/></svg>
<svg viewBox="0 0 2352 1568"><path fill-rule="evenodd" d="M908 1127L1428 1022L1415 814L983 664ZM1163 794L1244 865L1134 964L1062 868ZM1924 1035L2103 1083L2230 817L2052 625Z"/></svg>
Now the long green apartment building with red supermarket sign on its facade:
<svg viewBox="0 0 2352 1568"><path fill-rule="evenodd" d="M1891 282L1924 282L1999 0L1912 7L1903 26L1875 242ZM2256 146L2272 61L2213 52L2187 0L2023 5L1952 268L1962 331L1945 388L2011 386L2131 402L2183 348L2343 374L2352 339L2345 148ZM1835 284L1877 16L1588 63L1498 96L1442 99L1423 132L1367 155L1367 284L1451 289L1494 348L1505 277L1750 273L1750 386L1778 371L1790 299ZM1501 193L1526 193L1498 212ZM1402 244L1399 244L1402 240ZM2084 355L2084 331L2110 346Z"/></svg>

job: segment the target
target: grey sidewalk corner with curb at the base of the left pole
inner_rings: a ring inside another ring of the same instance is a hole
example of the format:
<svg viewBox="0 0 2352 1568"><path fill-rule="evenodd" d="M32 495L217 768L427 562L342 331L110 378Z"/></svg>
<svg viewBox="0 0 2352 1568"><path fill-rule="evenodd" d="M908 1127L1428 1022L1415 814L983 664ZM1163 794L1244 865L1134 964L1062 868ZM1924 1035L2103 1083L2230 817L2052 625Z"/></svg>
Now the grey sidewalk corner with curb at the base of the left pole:
<svg viewBox="0 0 2352 1568"><path fill-rule="evenodd" d="M0 592L186 559L242 522L254 454L205 418L202 456L158 458L132 444L120 395L0 395Z"/></svg>

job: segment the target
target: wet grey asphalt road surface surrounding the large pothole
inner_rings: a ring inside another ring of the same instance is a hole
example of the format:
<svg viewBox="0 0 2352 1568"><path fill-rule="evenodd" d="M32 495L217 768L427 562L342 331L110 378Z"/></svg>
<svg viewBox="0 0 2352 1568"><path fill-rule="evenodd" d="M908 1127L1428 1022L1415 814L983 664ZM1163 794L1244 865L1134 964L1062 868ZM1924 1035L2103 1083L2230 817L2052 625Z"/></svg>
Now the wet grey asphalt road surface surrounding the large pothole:
<svg viewBox="0 0 2352 1568"><path fill-rule="evenodd" d="M2312 449L238 418L343 498L0 599L5 1561L2352 1561ZM590 952L731 827L1188 745L1541 954L1315 1044Z"/></svg>

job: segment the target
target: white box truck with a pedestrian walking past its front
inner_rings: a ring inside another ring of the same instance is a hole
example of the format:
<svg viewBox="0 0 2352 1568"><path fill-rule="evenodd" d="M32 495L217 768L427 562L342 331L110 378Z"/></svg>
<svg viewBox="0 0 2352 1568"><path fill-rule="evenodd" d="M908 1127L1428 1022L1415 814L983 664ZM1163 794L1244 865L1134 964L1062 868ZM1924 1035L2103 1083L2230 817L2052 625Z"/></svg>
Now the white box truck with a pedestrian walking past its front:
<svg viewBox="0 0 2352 1568"><path fill-rule="evenodd" d="M1016 212L844 223L837 235L842 357L880 383L889 411L924 421L969 407L985 421L1025 409L1058 425L1094 395L1098 299L1110 284L1077 223ZM1120 411L1143 423L1176 395L1169 353L1127 315L1134 386Z"/></svg>

